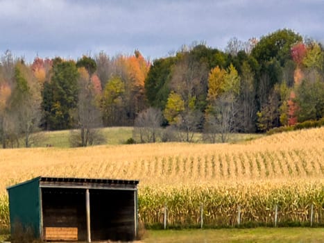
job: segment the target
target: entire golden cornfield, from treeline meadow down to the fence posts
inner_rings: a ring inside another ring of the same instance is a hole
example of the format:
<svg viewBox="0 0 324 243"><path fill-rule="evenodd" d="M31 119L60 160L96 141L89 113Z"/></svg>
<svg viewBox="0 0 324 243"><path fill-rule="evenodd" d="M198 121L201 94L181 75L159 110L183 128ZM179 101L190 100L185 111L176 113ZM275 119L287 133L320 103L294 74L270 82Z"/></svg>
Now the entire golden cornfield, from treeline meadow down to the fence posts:
<svg viewBox="0 0 324 243"><path fill-rule="evenodd" d="M324 128L241 144L132 144L82 149L0 150L0 227L8 226L6 187L35 176L139 179L146 226L324 224ZM203 210L201 211L201 208Z"/></svg>

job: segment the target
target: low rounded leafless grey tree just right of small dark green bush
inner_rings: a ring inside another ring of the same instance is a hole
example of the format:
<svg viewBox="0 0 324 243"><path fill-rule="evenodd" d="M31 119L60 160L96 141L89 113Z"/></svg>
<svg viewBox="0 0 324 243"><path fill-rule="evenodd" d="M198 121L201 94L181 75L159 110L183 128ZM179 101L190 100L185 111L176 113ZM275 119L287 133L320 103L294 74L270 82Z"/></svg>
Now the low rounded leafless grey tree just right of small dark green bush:
<svg viewBox="0 0 324 243"><path fill-rule="evenodd" d="M162 111L148 108L135 119L133 138L139 142L157 142L161 140Z"/></svg>

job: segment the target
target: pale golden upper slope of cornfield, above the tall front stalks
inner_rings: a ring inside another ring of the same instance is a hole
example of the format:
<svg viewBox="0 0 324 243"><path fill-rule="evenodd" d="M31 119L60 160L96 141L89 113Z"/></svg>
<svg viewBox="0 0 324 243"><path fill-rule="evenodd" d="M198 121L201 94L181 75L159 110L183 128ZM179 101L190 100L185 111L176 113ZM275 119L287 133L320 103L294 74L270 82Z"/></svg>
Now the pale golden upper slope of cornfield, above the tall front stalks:
<svg viewBox="0 0 324 243"><path fill-rule="evenodd" d="M0 150L1 192L38 175L137 178L141 185L323 178L324 128L246 144L133 144Z"/></svg>

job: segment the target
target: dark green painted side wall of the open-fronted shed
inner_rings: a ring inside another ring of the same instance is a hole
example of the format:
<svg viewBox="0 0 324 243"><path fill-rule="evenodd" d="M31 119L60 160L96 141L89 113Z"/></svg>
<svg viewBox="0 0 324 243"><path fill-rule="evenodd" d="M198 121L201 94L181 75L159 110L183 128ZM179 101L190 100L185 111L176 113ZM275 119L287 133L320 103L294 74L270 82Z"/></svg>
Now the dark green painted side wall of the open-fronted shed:
<svg viewBox="0 0 324 243"><path fill-rule="evenodd" d="M24 228L32 227L35 237L40 236L40 178L8 188L11 233L16 222Z"/></svg>

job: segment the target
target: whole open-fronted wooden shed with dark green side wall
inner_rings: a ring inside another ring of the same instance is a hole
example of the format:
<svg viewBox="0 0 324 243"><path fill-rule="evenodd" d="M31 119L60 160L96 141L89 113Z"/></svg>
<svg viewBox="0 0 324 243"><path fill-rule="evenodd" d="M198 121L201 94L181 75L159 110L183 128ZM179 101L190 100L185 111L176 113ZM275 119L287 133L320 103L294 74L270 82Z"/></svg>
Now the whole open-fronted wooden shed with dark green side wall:
<svg viewBox="0 0 324 243"><path fill-rule="evenodd" d="M44 241L135 240L139 181L37 177L8 187L11 232Z"/></svg>

